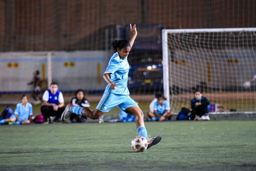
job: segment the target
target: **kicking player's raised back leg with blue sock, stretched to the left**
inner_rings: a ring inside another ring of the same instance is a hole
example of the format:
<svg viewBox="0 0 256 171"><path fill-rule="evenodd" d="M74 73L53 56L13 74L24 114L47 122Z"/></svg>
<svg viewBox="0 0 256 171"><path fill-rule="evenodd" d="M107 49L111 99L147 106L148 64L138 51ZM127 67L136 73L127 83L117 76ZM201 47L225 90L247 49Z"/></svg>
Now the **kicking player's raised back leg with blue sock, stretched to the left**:
<svg viewBox="0 0 256 171"><path fill-rule="evenodd" d="M64 122L65 120L67 120L68 117L71 115L71 113L86 116L91 119L99 119L99 117L104 114L104 112L99 111L98 109L95 109L94 111L92 111L89 108L77 107L69 103L61 115L61 121Z"/></svg>

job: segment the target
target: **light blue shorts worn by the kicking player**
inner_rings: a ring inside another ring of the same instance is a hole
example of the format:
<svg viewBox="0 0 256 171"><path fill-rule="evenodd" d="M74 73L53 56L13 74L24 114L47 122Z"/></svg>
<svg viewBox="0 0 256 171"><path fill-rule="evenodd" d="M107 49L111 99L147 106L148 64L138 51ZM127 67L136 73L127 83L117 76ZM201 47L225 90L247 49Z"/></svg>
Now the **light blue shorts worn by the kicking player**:
<svg viewBox="0 0 256 171"><path fill-rule="evenodd" d="M129 95L121 95L114 93L104 93L96 109L102 112L108 112L118 106L123 111L127 108L138 106Z"/></svg>

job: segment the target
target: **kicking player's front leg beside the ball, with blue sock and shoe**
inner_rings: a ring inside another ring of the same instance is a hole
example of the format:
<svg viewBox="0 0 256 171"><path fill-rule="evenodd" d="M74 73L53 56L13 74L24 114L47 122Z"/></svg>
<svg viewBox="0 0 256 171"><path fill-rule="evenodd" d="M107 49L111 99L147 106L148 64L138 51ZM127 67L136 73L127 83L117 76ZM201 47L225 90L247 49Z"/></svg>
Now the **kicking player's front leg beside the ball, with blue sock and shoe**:
<svg viewBox="0 0 256 171"><path fill-rule="evenodd" d="M139 132L139 135L147 138L147 142L148 142L147 149L152 147L153 145L156 145L157 143L159 143L161 141L162 136L160 136L160 135L156 136L156 137L152 137L152 138L147 136L147 130L144 126L144 120L143 120L144 115L138 106L133 106L133 107L127 108L125 110L125 112L130 113L133 116L135 116L136 127Z"/></svg>

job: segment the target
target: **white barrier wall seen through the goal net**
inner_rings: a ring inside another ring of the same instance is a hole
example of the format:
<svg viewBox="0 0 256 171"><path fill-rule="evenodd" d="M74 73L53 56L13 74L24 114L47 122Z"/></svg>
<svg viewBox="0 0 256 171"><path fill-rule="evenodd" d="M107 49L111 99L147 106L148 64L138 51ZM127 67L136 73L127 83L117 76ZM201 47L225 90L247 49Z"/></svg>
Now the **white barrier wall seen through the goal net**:
<svg viewBox="0 0 256 171"><path fill-rule="evenodd" d="M173 62L169 62L170 86L183 89L195 87L201 81L211 88L238 88L256 72L256 56L252 50L226 50L226 54L221 51L214 54L206 50L176 50L173 56ZM255 81L252 82L254 85Z"/></svg>

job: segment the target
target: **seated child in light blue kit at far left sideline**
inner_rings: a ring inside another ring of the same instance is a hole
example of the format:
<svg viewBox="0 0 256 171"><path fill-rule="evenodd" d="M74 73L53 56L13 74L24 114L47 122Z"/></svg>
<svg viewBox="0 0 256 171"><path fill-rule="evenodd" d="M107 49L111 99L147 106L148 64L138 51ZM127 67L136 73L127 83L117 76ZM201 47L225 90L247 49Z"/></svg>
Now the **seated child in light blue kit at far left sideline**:
<svg viewBox="0 0 256 171"><path fill-rule="evenodd" d="M21 124L30 124L31 117L33 116L33 110L31 103L28 102L27 95L23 95L21 98L21 103L16 105L14 114L12 114L7 119L0 120L0 124L14 124L14 125L21 125Z"/></svg>

